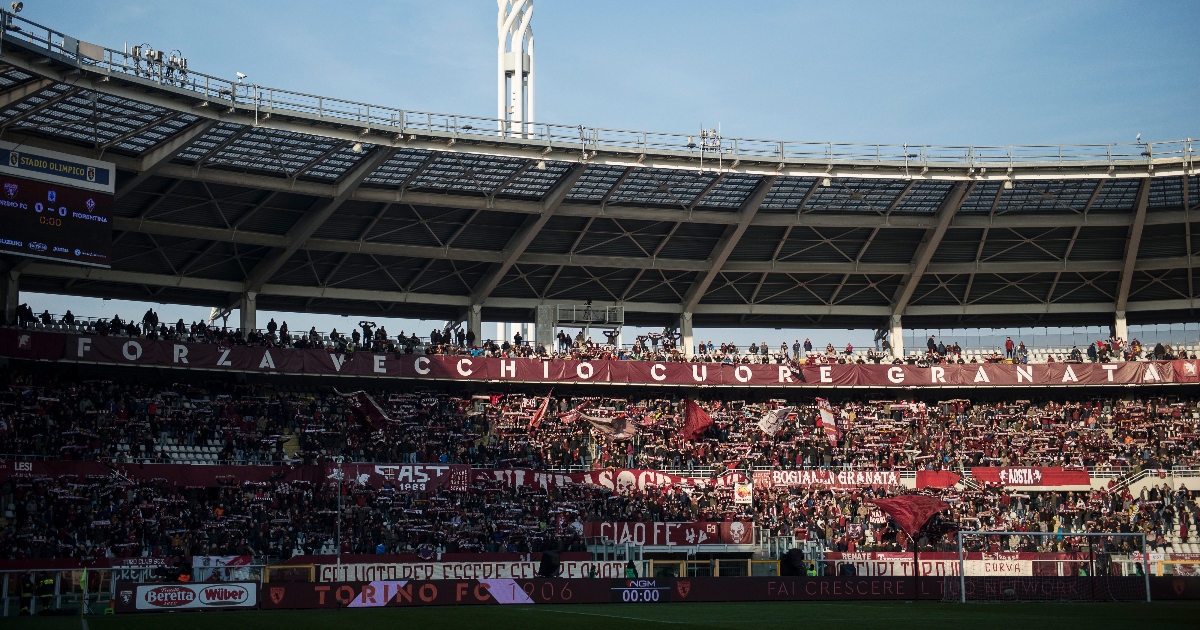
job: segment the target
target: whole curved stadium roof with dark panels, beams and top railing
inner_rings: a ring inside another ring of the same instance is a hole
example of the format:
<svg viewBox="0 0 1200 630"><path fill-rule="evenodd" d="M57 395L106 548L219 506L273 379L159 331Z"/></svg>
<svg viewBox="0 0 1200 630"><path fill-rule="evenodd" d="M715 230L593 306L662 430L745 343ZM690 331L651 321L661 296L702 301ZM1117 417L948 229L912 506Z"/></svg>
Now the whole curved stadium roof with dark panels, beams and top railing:
<svg viewBox="0 0 1200 630"><path fill-rule="evenodd" d="M594 300L630 324L734 326L1154 323L1196 306L1192 140L522 134L5 19L0 139L119 169L112 269L25 260L23 290L500 320Z"/></svg>

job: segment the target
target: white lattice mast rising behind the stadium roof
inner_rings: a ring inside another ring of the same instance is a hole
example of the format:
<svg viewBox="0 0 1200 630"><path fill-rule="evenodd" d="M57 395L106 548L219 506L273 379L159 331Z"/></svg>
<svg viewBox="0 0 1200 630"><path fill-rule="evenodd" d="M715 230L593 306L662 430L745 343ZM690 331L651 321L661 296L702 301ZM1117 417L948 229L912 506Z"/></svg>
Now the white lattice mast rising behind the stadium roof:
<svg viewBox="0 0 1200 630"><path fill-rule="evenodd" d="M533 0L497 0L497 116L500 134L533 134Z"/></svg>

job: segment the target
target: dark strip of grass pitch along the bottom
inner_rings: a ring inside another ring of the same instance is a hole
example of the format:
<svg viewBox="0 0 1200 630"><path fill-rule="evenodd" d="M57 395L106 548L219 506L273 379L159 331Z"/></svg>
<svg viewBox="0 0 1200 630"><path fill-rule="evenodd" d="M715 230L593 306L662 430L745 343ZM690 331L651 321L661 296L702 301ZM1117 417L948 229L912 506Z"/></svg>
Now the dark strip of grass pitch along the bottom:
<svg viewBox="0 0 1200 630"><path fill-rule="evenodd" d="M590 630L620 628L769 630L774 628L886 628L888 630L970 628L1196 628L1200 601L1154 604L937 604L716 602L599 604L569 606L463 606L374 610L174 612L88 617L88 630ZM8 618L2 625L30 630L80 630L78 617Z"/></svg>

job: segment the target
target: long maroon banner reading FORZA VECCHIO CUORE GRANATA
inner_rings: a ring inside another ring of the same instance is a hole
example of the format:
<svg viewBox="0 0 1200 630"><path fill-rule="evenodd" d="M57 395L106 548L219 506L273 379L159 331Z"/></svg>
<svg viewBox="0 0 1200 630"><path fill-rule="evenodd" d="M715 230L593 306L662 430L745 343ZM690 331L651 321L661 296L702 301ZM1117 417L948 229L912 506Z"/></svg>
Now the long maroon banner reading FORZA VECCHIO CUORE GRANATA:
<svg viewBox="0 0 1200 630"><path fill-rule="evenodd" d="M419 380L616 383L770 388L996 388L1157 385L1200 382L1198 361L1120 364L786 365L677 364L612 360L492 359L389 353L331 353L101 335L0 330L0 356L262 373L341 374Z"/></svg>

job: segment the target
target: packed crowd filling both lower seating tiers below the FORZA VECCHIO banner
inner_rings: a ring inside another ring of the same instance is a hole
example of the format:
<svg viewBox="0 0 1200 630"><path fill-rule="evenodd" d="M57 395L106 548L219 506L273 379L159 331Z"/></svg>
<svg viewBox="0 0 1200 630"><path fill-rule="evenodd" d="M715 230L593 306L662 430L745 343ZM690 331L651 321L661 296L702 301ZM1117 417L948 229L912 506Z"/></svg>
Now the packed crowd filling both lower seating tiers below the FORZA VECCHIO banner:
<svg viewBox="0 0 1200 630"><path fill-rule="evenodd" d="M1200 401L1112 397L1002 402L845 400L822 414L811 398L707 400L713 420L684 437L685 401L545 395L457 397L374 391L385 416L335 390L282 385L72 379L4 374L0 455L172 462L169 446L212 445L222 463L469 463L475 468L650 468L713 479L756 467L953 469L1086 467L1118 474L1193 468ZM760 420L775 410L773 432ZM536 418L536 420L535 420ZM616 420L625 428L613 431ZM1120 478L1116 478L1120 480ZM964 490L965 488L965 490ZM871 498L900 487L758 488L736 504L716 484L630 493L586 485L551 491L473 482L469 492L406 493L348 484L343 551L576 550L584 521L752 520L775 535L830 550L899 550L908 542ZM1187 541L1195 496L1114 482L1093 492L1020 494L970 484L942 491L946 520L1028 532L1142 532ZM246 554L283 559L331 550L336 491L304 481L176 488L121 478L13 475L0 487L0 557ZM944 544L944 540L942 541ZM938 545L925 540L926 546ZM997 550L1069 546L1069 538L996 540Z"/></svg>

